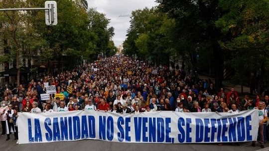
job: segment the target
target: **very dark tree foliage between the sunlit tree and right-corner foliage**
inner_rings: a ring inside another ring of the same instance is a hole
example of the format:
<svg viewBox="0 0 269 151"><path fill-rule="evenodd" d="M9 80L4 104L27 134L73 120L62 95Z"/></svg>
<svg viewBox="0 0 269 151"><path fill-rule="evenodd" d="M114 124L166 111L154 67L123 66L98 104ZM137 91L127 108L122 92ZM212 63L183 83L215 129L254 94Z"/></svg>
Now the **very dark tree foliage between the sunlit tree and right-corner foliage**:
<svg viewBox="0 0 269 151"><path fill-rule="evenodd" d="M176 25L170 37L175 53L190 60L192 68L212 68L216 88L223 79L223 50L218 41L222 38L215 21L222 15L218 0L156 0L162 12L174 18ZM208 53L211 51L211 53ZM212 54L212 55L204 55ZM199 54L199 60L196 59ZM203 57L205 56L205 57ZM202 58L203 57L203 58ZM204 66L198 66L198 65Z"/></svg>

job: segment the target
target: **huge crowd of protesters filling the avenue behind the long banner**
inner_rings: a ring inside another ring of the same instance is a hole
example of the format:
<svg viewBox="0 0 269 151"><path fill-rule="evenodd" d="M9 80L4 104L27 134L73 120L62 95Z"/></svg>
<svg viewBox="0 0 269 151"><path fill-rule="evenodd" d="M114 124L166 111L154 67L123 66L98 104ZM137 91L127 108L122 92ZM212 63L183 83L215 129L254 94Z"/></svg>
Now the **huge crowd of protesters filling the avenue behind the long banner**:
<svg viewBox="0 0 269 151"><path fill-rule="evenodd" d="M63 94L63 100L54 95L50 95L49 100L41 100L40 95L46 93L45 83L55 85L56 94ZM67 92L67 87L72 90ZM269 103L269 96L262 98L257 95L255 99L245 96L240 99L234 88L229 92L223 88L218 91L210 79L195 80L178 69L152 66L126 56L102 58L72 71L43 76L32 80L27 86L19 85L15 94L10 93L7 89L0 107L2 135L7 134L6 140L10 139L11 128L17 131L16 118L20 111L103 110L136 114L170 110L236 113L257 108L265 110L259 117L263 121L261 123L266 123L265 108ZM266 130L260 129L260 135L264 135L263 131ZM17 133L14 136L18 139ZM263 148L264 137L260 141Z"/></svg>

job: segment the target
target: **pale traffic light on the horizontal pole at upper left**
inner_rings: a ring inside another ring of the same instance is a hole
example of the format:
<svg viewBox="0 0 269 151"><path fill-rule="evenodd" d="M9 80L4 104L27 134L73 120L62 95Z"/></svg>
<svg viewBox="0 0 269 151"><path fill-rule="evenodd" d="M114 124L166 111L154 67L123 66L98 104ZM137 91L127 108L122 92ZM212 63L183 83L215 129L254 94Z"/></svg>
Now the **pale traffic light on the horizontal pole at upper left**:
<svg viewBox="0 0 269 151"><path fill-rule="evenodd" d="M57 25L57 3L56 1L45 1L46 25Z"/></svg>

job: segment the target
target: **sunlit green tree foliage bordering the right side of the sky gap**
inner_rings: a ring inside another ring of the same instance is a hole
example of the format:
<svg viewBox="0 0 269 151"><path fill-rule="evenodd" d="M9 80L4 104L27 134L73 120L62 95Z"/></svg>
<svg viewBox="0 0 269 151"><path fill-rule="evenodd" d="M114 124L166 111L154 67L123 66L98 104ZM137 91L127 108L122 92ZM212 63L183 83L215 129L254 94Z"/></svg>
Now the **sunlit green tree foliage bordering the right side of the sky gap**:
<svg viewBox="0 0 269 151"><path fill-rule="evenodd" d="M151 59L153 63L169 63L169 30L174 20L157 8L144 8L132 12L128 38L124 42L124 53L140 59Z"/></svg>

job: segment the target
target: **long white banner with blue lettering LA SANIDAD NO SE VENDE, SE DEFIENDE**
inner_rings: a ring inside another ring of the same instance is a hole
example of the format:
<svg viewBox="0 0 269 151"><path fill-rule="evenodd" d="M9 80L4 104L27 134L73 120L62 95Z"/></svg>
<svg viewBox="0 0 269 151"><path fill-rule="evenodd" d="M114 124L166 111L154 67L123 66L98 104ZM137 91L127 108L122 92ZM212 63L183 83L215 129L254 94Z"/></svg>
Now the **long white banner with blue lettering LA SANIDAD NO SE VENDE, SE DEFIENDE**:
<svg viewBox="0 0 269 151"><path fill-rule="evenodd" d="M19 113L19 144L95 139L128 143L256 141L258 110L240 113L104 111Z"/></svg>

